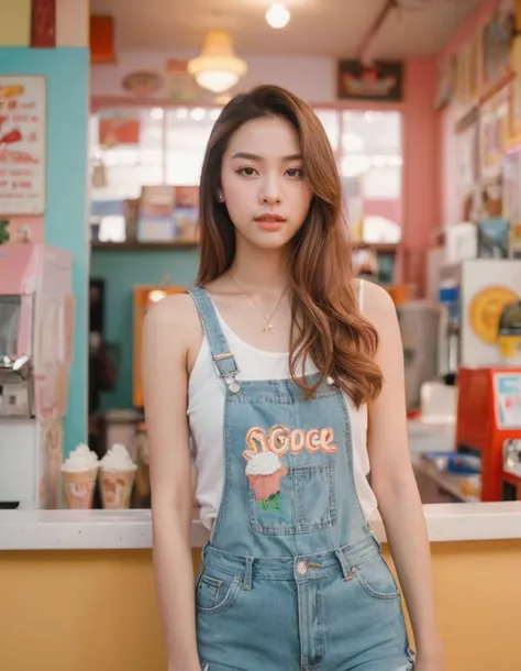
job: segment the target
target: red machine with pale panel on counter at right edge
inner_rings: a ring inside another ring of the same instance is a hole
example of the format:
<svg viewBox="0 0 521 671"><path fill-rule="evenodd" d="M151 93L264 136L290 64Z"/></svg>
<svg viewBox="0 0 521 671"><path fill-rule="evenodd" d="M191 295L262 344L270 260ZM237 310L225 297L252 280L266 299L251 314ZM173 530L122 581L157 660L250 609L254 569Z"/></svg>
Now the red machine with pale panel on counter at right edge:
<svg viewBox="0 0 521 671"><path fill-rule="evenodd" d="M503 501L503 446L521 439L521 366L458 371L456 449L481 460L481 501Z"/></svg>

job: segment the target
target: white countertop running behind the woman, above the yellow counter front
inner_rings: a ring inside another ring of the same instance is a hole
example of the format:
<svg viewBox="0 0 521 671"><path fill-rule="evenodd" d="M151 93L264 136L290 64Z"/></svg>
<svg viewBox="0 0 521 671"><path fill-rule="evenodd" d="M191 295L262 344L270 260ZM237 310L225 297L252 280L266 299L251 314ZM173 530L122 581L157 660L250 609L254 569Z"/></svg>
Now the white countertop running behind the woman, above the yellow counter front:
<svg viewBox="0 0 521 671"><path fill-rule="evenodd" d="M521 538L521 502L424 506L431 542ZM379 517L372 520L385 541ZM208 540L199 520L192 547ZM0 550L149 549L149 510L0 510Z"/></svg>

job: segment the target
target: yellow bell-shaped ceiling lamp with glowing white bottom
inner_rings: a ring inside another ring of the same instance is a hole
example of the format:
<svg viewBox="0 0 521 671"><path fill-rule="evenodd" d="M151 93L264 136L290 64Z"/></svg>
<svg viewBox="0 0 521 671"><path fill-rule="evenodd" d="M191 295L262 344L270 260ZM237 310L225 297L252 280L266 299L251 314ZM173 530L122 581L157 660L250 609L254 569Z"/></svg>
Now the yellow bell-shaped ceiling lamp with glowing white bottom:
<svg viewBox="0 0 521 671"><path fill-rule="evenodd" d="M201 54L188 62L190 75L200 87L213 94L234 87L246 70L245 61L235 56L228 31L209 31Z"/></svg>

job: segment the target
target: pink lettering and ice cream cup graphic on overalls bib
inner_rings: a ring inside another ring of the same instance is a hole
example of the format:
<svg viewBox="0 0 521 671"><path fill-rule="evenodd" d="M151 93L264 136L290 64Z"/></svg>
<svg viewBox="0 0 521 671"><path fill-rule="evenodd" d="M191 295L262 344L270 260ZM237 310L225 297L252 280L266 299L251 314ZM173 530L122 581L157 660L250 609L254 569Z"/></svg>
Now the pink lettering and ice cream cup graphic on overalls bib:
<svg viewBox="0 0 521 671"><path fill-rule="evenodd" d="M246 477L263 510L280 510L280 483L288 474L281 457L302 450L332 454L339 449L331 427L304 431L284 425L275 425L267 433L262 427L252 427L246 433L246 446L243 452Z"/></svg>

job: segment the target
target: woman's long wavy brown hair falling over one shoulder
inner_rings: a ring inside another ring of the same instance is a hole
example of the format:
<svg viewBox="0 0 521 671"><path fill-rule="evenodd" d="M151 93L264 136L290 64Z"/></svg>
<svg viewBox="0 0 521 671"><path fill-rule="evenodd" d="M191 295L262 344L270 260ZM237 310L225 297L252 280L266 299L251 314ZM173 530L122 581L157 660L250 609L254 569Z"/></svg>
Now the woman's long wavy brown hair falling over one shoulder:
<svg viewBox="0 0 521 671"><path fill-rule="evenodd" d="M236 96L213 127L200 182L197 282L204 285L217 279L233 263L235 229L225 205L217 199L221 163L235 131L246 121L262 117L280 117L297 130L313 194L306 221L290 243L291 377L312 396L331 376L359 406L376 398L381 389L381 371L374 360L378 333L361 315L353 292L352 249L330 142L313 110L284 88L264 85ZM299 374L308 358L320 371L313 384Z"/></svg>

